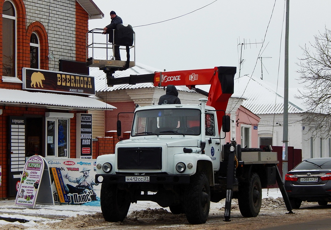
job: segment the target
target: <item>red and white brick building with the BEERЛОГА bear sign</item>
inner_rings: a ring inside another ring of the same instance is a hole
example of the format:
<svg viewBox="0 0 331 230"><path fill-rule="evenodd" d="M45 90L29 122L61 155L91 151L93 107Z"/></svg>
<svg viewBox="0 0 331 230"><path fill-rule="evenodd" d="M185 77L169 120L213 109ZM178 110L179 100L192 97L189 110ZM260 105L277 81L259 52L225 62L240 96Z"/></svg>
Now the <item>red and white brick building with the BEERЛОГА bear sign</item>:
<svg viewBox="0 0 331 230"><path fill-rule="evenodd" d="M92 0L0 0L0 199L16 195L27 157L82 157L79 114L115 108L91 98L82 67L88 20L102 17Z"/></svg>

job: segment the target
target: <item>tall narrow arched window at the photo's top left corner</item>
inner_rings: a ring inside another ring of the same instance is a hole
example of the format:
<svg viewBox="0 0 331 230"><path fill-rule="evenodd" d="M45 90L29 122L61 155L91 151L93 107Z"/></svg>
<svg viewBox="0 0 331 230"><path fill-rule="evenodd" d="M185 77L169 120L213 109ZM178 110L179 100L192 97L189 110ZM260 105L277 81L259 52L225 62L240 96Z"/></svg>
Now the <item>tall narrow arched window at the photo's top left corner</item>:
<svg viewBox="0 0 331 230"><path fill-rule="evenodd" d="M16 12L10 1L3 4L2 31L2 76L16 77Z"/></svg>

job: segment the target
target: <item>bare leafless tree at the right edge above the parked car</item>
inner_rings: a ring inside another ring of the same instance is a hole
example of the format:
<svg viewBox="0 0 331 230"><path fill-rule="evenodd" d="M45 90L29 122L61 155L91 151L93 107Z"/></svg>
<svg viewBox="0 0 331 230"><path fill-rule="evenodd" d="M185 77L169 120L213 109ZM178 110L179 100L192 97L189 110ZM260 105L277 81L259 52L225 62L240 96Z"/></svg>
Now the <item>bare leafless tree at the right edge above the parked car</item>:
<svg viewBox="0 0 331 230"><path fill-rule="evenodd" d="M314 36L315 43L301 47L304 58L297 63L303 91L297 98L303 99L309 110L302 114L302 122L313 137L326 137L331 133L331 30Z"/></svg>

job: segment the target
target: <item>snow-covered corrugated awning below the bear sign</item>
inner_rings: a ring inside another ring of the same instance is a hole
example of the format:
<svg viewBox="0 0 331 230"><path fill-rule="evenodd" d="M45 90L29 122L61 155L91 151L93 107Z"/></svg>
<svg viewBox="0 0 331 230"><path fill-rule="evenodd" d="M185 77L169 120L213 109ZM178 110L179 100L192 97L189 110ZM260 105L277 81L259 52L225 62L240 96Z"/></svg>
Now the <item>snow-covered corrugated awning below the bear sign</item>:
<svg viewBox="0 0 331 230"><path fill-rule="evenodd" d="M86 96L28 92L24 90L10 89L0 89L0 104L16 104L19 106L35 105L68 110L116 109L113 105Z"/></svg>

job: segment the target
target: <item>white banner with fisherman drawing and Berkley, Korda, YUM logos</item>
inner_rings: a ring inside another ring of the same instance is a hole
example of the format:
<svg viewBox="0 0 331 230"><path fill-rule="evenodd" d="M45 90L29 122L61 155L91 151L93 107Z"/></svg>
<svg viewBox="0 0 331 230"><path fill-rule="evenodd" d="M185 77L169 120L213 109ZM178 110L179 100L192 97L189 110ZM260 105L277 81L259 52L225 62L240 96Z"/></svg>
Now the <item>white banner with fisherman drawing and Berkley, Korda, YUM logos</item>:
<svg viewBox="0 0 331 230"><path fill-rule="evenodd" d="M48 167L61 170L69 204L100 206L101 185L95 182L95 159L46 158ZM55 184L52 183L54 202L59 203Z"/></svg>

